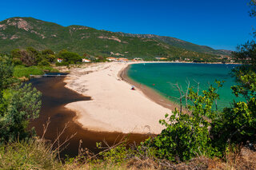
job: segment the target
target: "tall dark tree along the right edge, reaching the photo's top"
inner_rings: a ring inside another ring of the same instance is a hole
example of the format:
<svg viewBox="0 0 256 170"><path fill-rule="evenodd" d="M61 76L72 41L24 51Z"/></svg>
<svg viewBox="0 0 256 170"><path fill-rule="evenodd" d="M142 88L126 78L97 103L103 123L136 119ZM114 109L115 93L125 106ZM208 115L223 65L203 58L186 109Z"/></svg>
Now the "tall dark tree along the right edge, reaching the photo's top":
<svg viewBox="0 0 256 170"><path fill-rule="evenodd" d="M256 17L256 1L251 0L251 17ZM255 33L254 33L255 34ZM232 53L242 65L232 70L237 85L231 87L236 97L246 101L233 102L232 107L219 113L213 121L212 135L215 146L224 151L228 146L256 142L256 44L254 41L239 45Z"/></svg>

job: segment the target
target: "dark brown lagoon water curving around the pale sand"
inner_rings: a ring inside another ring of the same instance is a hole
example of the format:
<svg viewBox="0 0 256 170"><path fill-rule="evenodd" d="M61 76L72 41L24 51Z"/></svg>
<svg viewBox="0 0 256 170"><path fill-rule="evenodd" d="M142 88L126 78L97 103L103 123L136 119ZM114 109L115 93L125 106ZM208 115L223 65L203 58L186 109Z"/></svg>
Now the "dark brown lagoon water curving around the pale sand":
<svg viewBox="0 0 256 170"><path fill-rule="evenodd" d="M62 131L65 124L69 122L68 128L61 137L64 141L67 136L74 133L76 135L69 140L66 149L61 152L62 157L65 155L78 155L79 140L82 140L82 148L89 148L92 152L98 152L96 142L106 140L108 144L114 144L122 138L127 136L121 132L90 132L81 128L74 123L73 118L75 113L64 106L74 101L88 101L90 97L84 97L81 94L75 93L73 90L67 89L64 86L63 77L42 77L34 78L29 82L42 92L42 109L38 119L30 122L30 128L34 127L38 136L42 136L43 125L46 124L48 117L50 117L50 125L46 132L46 140L54 141L57 133ZM148 136L142 134L128 135L129 142L133 143L145 140Z"/></svg>

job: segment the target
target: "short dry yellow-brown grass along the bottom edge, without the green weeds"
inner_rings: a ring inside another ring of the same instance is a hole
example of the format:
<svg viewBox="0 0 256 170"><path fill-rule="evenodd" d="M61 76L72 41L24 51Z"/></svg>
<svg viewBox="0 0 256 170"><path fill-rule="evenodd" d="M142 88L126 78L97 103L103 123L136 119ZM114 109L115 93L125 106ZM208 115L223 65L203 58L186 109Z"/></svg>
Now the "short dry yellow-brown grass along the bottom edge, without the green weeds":
<svg viewBox="0 0 256 170"><path fill-rule="evenodd" d="M242 148L239 153L230 153L226 156L226 161L200 156L188 162L174 164L168 160L133 156L120 164L83 162L78 158L62 164L58 160L58 153L52 152L50 147L50 144L42 140L6 144L0 147L0 169L256 169L256 152L249 148Z"/></svg>

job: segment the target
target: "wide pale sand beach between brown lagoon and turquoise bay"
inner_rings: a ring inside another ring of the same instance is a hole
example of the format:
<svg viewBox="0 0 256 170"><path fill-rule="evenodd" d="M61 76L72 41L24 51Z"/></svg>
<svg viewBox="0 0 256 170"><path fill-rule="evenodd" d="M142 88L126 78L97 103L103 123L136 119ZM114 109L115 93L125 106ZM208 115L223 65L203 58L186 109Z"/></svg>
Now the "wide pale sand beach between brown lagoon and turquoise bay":
<svg viewBox="0 0 256 170"><path fill-rule="evenodd" d="M71 76L65 80L66 87L92 97L92 101L66 105L77 113L76 121L83 128L124 133L162 131L164 127L158 121L171 113L170 109L151 101L138 89L131 90L131 85L121 81L118 73L126 66L126 63L111 62L71 70Z"/></svg>

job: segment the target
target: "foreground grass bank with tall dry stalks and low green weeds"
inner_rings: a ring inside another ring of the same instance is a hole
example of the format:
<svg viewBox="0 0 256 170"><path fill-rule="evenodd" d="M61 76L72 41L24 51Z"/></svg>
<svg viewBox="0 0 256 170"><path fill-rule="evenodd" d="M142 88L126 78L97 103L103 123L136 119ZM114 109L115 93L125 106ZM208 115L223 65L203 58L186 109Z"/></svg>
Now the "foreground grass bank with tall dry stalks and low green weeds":
<svg viewBox="0 0 256 170"><path fill-rule="evenodd" d="M46 133L50 120L44 125L43 134ZM134 144L127 150L126 139L117 141L116 144L106 147L103 154L93 154L88 149L80 148L79 155L70 160L63 161L59 156L61 148L70 140L70 136L60 141L60 136L66 130L67 125L53 143L48 143L42 138L31 139L25 142L14 142L0 145L0 169L175 169L175 170L254 170L256 169L255 146L243 147L238 152L226 154L226 159L210 159L206 156L198 156L190 161L174 164L169 160L159 160L152 154L151 148L140 148ZM54 144L56 146L54 146ZM81 144L80 144L81 146ZM110 152L110 153L108 153ZM105 156L105 157L104 157ZM106 157L109 156L109 157ZM120 157L121 156L121 157Z"/></svg>

